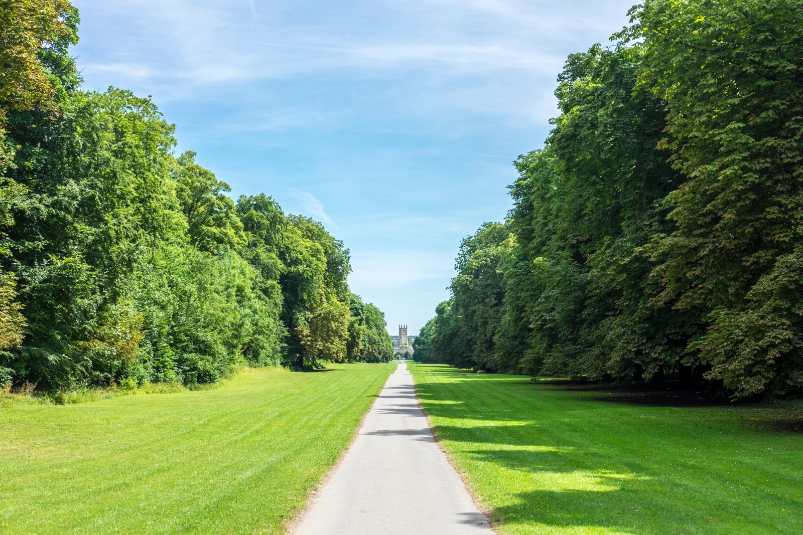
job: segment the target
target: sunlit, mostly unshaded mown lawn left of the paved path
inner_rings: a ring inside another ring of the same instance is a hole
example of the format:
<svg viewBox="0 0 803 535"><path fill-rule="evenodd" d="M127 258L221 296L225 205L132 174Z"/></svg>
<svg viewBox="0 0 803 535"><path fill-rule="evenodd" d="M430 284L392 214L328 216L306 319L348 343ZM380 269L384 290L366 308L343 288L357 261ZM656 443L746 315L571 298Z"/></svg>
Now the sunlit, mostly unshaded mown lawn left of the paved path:
<svg viewBox="0 0 803 535"><path fill-rule="evenodd" d="M0 534L284 533L395 363L0 408Z"/></svg>

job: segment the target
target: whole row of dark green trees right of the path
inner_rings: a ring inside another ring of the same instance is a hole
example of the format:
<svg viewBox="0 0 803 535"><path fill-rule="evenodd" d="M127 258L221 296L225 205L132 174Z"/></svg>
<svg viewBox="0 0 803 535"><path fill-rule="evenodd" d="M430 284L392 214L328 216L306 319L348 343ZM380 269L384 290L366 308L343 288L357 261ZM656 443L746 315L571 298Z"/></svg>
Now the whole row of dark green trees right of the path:
<svg viewBox="0 0 803 535"><path fill-rule="evenodd" d="M416 359L803 391L803 5L646 0L570 55Z"/></svg>

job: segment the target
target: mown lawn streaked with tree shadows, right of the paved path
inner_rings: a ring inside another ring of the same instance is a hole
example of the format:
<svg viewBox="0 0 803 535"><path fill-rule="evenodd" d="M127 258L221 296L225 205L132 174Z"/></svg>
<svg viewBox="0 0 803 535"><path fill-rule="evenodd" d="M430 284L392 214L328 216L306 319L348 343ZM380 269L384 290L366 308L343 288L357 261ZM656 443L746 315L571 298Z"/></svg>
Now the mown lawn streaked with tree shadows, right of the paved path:
<svg viewBox="0 0 803 535"><path fill-rule="evenodd" d="M410 368L499 533L803 533L801 403L671 407Z"/></svg>

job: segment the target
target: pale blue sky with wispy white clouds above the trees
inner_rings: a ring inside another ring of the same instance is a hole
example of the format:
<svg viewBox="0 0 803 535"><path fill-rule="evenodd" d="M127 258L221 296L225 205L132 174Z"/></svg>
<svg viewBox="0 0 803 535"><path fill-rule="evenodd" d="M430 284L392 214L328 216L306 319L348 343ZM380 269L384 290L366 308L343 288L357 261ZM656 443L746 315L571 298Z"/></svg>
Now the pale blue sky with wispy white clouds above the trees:
<svg viewBox="0 0 803 535"><path fill-rule="evenodd" d="M388 329L449 298L463 237L511 208L567 55L635 0L73 0L84 87L152 95L176 152L351 251Z"/></svg>

